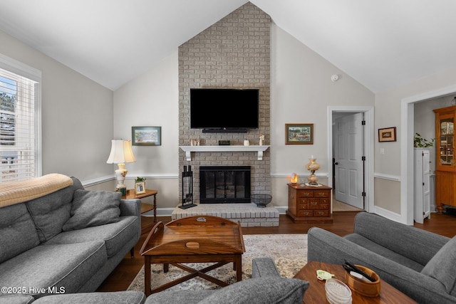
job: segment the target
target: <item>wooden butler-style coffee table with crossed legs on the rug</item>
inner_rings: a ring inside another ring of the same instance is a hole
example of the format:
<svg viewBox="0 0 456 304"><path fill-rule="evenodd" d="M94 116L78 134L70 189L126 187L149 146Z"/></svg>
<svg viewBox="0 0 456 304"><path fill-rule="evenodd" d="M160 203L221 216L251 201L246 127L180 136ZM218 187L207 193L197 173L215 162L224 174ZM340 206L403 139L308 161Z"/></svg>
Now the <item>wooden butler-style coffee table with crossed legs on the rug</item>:
<svg viewBox="0 0 456 304"><path fill-rule="evenodd" d="M239 223L218 216L188 216L164 225L159 221L153 226L140 250L144 256L145 294L157 293L199 276L220 286L229 283L207 275L208 271L233 263L236 281L242 280L242 254L245 252L242 228ZM150 287L150 264L162 263L163 271L169 264L190 274L175 281ZM182 263L215 263L196 270Z"/></svg>

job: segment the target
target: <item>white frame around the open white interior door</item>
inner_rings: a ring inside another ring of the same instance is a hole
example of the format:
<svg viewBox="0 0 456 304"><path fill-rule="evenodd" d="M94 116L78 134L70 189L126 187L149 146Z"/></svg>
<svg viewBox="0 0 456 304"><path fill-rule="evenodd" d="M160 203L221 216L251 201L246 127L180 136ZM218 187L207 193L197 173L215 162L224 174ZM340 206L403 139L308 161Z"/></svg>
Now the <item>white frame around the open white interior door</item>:
<svg viewBox="0 0 456 304"><path fill-rule="evenodd" d="M363 112L364 120L366 120L366 129L364 132L364 156L366 156L365 163L365 179L366 179L366 201L364 210L373 212L374 204L374 107L373 106L350 106L350 107L331 107L328 106L328 186L333 187L333 112ZM331 164L331 165L330 165ZM332 204L332 202L331 202ZM332 208L331 208L332 212Z"/></svg>

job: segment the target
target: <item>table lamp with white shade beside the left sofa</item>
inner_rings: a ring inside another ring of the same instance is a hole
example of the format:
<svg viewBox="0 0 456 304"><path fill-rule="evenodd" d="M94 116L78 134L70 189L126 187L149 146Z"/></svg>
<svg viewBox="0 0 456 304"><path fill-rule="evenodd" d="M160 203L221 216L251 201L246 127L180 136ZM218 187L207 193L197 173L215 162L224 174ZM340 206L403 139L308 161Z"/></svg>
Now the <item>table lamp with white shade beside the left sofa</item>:
<svg viewBox="0 0 456 304"><path fill-rule="evenodd" d="M118 169L115 170L115 177L117 177L116 192L121 192L122 196L127 194L127 186L125 186L125 176L127 170L125 169L125 162L136 162L135 155L131 149L130 140L112 140L111 152L109 154L108 164L118 164Z"/></svg>

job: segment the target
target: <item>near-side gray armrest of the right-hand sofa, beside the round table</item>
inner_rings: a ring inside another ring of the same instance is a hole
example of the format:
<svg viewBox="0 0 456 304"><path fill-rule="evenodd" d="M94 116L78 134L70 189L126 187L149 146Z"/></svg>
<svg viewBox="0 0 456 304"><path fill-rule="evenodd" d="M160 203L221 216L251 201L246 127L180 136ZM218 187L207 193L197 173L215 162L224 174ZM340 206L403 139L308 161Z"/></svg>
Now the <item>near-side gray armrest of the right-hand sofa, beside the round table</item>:
<svg viewBox="0 0 456 304"><path fill-rule="evenodd" d="M342 265L345 260L372 269L418 303L455 303L442 283L317 227L308 232L308 261Z"/></svg>

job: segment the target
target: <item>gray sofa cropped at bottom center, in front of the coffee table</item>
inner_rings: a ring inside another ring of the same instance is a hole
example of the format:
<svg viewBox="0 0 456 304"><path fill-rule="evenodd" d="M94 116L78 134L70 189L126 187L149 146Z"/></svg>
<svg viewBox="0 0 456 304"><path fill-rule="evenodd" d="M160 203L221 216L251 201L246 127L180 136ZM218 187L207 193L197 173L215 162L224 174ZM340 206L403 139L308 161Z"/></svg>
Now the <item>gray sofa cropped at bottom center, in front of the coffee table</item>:
<svg viewBox="0 0 456 304"><path fill-rule="evenodd" d="M309 282L282 278L271 258L254 258L252 278L217 290L181 290L153 293L146 304L264 304L302 303Z"/></svg>

